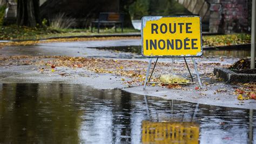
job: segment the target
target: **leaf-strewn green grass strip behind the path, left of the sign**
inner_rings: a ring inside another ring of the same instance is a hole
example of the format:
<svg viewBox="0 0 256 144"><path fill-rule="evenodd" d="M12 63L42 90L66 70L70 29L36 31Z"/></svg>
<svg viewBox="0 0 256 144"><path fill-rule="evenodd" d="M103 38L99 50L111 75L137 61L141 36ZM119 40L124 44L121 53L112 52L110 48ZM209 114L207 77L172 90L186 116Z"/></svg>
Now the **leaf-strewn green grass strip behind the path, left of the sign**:
<svg viewBox="0 0 256 144"><path fill-rule="evenodd" d="M113 34L122 33L121 28L117 28L117 32L114 29L100 29L100 33L97 33L97 28L93 28L93 33L89 29L53 29L36 28L36 27L18 27L16 25L0 26L0 40L38 40L52 37L71 37L71 36L83 36L94 34ZM139 32L133 28L124 28L124 33Z"/></svg>

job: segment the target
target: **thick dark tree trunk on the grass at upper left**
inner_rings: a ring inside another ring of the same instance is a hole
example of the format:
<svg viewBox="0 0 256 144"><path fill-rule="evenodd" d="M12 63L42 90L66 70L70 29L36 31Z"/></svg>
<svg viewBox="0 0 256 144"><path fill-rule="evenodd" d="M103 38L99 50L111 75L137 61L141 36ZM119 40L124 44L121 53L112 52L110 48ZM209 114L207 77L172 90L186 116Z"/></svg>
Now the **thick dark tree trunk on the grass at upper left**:
<svg viewBox="0 0 256 144"><path fill-rule="evenodd" d="M41 24L39 0L18 0L17 25L35 27Z"/></svg>

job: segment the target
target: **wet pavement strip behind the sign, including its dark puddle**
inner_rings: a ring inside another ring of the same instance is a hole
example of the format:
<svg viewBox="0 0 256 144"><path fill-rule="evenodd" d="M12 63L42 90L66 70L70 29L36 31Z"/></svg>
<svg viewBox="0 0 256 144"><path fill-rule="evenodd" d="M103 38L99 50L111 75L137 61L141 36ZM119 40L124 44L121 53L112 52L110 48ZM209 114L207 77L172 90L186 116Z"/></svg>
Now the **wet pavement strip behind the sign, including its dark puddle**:
<svg viewBox="0 0 256 144"><path fill-rule="evenodd" d="M100 50L100 51L99 51ZM35 46L8 46L0 48L0 54L9 55L65 55L83 57L108 57L118 59L144 58L141 55L140 39L78 41L37 44ZM250 56L250 49L238 50L210 50L204 49L204 56L208 61L216 57L230 59Z"/></svg>

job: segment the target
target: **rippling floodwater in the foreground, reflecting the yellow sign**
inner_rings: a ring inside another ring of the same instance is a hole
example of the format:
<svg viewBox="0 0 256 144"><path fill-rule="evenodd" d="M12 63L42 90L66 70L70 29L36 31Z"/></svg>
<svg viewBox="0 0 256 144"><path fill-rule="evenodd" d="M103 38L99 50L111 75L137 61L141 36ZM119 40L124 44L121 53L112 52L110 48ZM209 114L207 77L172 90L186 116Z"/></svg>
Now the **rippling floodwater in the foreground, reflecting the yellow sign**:
<svg viewBox="0 0 256 144"><path fill-rule="evenodd" d="M252 110L71 84L0 84L0 143L253 143Z"/></svg>

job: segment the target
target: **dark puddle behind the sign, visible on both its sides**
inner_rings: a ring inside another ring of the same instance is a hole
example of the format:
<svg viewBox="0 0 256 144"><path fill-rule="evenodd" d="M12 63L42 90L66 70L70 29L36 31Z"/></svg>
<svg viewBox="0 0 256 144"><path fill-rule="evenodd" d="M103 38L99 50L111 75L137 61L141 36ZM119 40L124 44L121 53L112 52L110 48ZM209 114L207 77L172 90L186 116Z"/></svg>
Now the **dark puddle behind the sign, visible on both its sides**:
<svg viewBox="0 0 256 144"><path fill-rule="evenodd" d="M90 47L92 48L92 47ZM130 52L136 53L138 55L142 54L142 47L141 46L119 46L119 47L93 47L96 49L104 49L116 52ZM250 49L204 49L203 56L205 57L216 57L216 56L224 56L224 57L247 57L250 56L251 51Z"/></svg>

